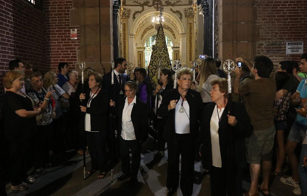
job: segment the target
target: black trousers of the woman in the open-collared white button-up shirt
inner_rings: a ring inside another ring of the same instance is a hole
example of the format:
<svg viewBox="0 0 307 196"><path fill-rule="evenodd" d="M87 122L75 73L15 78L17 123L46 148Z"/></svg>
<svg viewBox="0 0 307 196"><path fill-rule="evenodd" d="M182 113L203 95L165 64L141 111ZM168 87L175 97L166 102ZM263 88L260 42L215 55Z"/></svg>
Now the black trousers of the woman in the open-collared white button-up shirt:
<svg viewBox="0 0 307 196"><path fill-rule="evenodd" d="M130 171L129 148L132 152L132 163ZM131 178L137 178L138 169L141 163L142 143L139 140L124 140L119 135L119 154L122 160L122 173L131 174Z"/></svg>

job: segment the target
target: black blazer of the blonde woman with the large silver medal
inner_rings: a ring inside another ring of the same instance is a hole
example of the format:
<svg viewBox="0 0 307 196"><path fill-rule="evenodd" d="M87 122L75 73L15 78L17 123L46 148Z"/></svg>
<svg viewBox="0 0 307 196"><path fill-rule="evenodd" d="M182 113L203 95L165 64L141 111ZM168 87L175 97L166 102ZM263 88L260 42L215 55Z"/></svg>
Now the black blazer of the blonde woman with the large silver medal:
<svg viewBox="0 0 307 196"><path fill-rule="evenodd" d="M173 135L175 132L175 109L168 111L168 105L171 100L180 100L180 93L178 89L171 89L165 92L162 103L158 108L158 115L165 119L163 126L163 131L167 133L168 142L172 141ZM199 122L201 120L202 111L203 111L203 101L200 97L200 93L194 90L189 89L186 96L190 107L190 134L192 134L193 139L196 140L199 134Z"/></svg>

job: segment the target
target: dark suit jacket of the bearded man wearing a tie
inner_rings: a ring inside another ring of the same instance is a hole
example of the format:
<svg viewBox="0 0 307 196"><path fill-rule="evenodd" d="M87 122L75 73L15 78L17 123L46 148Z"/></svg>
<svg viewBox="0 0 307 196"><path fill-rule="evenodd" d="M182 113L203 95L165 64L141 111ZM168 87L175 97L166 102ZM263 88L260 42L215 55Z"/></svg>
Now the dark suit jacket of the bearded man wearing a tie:
<svg viewBox="0 0 307 196"><path fill-rule="evenodd" d="M125 93L125 83L126 81L129 81L129 77L126 73L121 73L122 77L122 88L119 88L119 82L114 74L114 88L111 88L111 73L106 73L103 76L103 82L102 82L102 88L107 91L108 94L108 100L113 99L113 101L117 102L118 100L122 99L124 97L123 94L119 94L119 92L122 90L123 93Z"/></svg>

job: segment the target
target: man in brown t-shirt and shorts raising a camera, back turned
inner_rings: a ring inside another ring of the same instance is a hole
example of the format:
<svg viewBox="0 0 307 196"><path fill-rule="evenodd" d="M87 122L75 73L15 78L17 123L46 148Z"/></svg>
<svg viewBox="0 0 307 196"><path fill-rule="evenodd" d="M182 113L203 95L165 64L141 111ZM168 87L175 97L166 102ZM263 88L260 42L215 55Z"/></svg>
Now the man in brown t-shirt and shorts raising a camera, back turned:
<svg viewBox="0 0 307 196"><path fill-rule="evenodd" d="M253 65L242 57L236 58L236 61L250 66L251 76L255 78L255 80L240 85L241 71L238 66L236 67L234 93L243 98L246 111L254 127L251 137L245 139L247 163L250 164L251 187L244 195L258 196L258 190L263 194L270 194L268 184L275 136L273 104L276 84L269 76L274 65L265 56L256 56ZM261 185L258 185L261 166L263 181Z"/></svg>

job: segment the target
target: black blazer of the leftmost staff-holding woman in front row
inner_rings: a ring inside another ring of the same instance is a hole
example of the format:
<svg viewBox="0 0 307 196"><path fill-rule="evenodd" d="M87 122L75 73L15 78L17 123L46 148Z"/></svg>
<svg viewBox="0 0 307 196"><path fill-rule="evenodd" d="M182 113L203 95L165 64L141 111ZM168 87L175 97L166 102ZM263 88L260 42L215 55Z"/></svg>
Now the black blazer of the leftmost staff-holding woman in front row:
<svg viewBox="0 0 307 196"><path fill-rule="evenodd" d="M90 94L91 89L85 93L85 104L90 99ZM107 110L109 103L107 92L103 89L100 89L95 98L91 100L91 107L86 108L86 113L91 115L91 131L107 133Z"/></svg>

